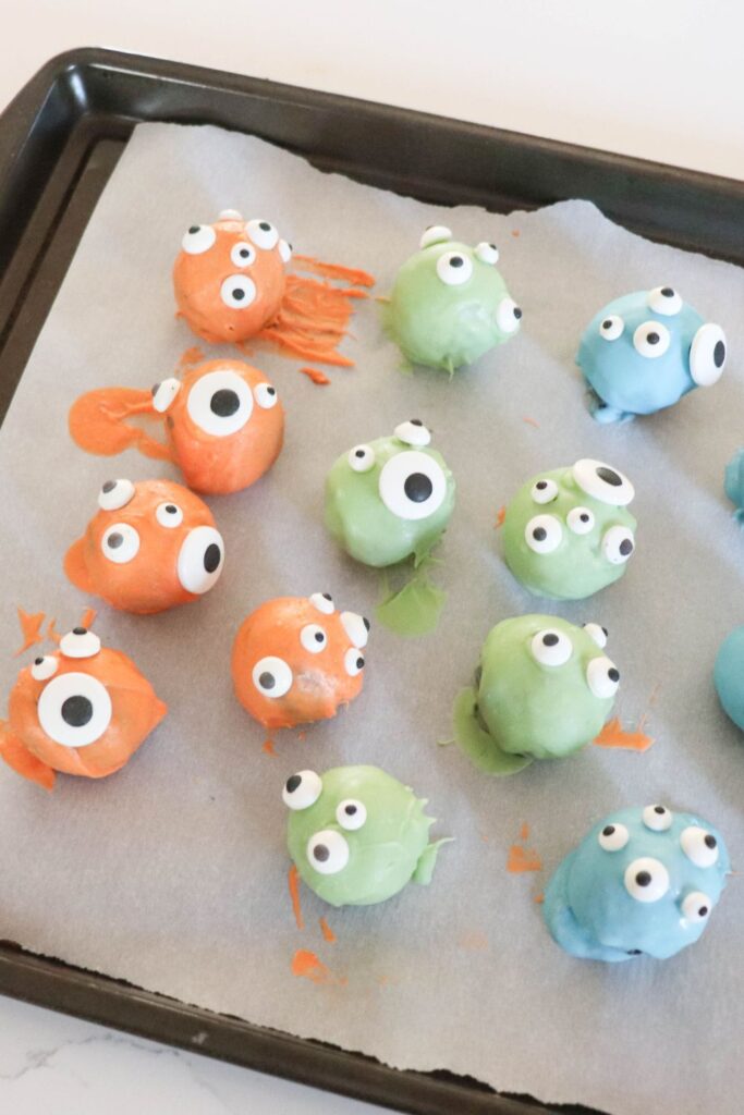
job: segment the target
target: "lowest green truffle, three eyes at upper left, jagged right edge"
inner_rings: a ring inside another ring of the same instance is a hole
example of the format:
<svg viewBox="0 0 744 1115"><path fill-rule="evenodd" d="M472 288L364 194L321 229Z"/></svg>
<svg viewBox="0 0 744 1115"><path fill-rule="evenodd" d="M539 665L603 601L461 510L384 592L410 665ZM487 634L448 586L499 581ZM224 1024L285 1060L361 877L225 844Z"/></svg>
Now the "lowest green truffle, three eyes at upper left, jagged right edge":
<svg viewBox="0 0 744 1115"><path fill-rule="evenodd" d="M425 798L374 766L301 770L287 779L287 844L302 881L331 905L385 902L432 880L438 850Z"/></svg>

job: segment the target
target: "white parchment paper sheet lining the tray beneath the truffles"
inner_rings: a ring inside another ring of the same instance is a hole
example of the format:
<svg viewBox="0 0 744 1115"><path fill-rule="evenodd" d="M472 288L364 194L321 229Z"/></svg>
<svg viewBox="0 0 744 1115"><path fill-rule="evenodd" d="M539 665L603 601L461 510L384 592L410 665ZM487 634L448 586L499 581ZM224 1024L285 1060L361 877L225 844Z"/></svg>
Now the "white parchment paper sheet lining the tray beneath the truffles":
<svg viewBox="0 0 744 1115"><path fill-rule="evenodd" d="M174 254L185 227L226 206L270 219L300 251L366 268L379 293L427 224L444 221L470 243L493 240L523 329L452 382L400 375L373 301L358 306L346 342L357 367L332 370L329 387L299 375L299 361L255 355L284 399L287 445L254 487L210 501L226 541L222 580L171 613L103 605L96 623L105 643L133 655L168 717L108 780L62 776L49 797L0 770L1 935L402 1068L447 1068L615 1115L741 1112L741 879L703 940L666 962L573 960L550 940L535 902L588 826L627 804L697 811L741 864L744 750L711 681L722 638L744 621L744 539L722 492L744 436L740 270L650 244L583 202L509 216L433 209L323 175L258 139L141 125L0 434L0 692L19 667L16 604L67 629L94 602L66 583L61 558L99 484L167 472L134 452L106 460L77 450L67 411L81 391L172 374L194 343L173 316ZM667 282L725 326L726 375L650 420L600 428L573 365L580 331L612 297ZM413 416L433 428L458 482L436 574L450 593L439 630L417 641L374 630L359 700L306 739L280 734L268 755L265 733L232 695L233 634L251 609L284 593L331 591L341 607L373 612L377 576L326 536L322 482L339 453ZM494 521L525 478L581 456L635 481L638 553L600 597L545 605L505 569ZM541 610L610 629L624 679L618 711L628 727L647 714L648 753L590 747L490 780L454 747L437 748L489 629ZM435 834L456 843L442 850L429 889L376 908L334 911L305 891L299 931L280 789L298 768L340 763L376 763L414 786L439 818ZM538 875L505 870L523 823L543 860ZM315 951L334 980L293 976L298 949Z"/></svg>

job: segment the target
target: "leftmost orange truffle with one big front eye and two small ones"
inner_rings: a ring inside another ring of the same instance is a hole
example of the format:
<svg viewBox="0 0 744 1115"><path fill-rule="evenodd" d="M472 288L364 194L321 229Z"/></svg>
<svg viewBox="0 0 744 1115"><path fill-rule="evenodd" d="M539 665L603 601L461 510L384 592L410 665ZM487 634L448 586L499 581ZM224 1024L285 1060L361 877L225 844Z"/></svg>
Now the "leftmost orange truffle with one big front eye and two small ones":
<svg viewBox="0 0 744 1115"><path fill-rule="evenodd" d="M18 675L8 720L0 720L0 757L46 789L55 772L105 778L166 712L132 659L78 627Z"/></svg>

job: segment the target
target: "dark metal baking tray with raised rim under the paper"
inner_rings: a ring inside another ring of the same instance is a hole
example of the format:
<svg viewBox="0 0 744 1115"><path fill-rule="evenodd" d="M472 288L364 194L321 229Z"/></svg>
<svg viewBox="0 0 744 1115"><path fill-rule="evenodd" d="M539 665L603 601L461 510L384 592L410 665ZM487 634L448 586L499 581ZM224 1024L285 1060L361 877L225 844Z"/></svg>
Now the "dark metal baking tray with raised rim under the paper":
<svg viewBox="0 0 744 1115"><path fill-rule="evenodd" d="M744 184L134 55L80 49L0 116L0 420L80 235L142 120L260 136L325 171L433 204L495 212L570 197L653 240L744 264ZM553 1107L448 1073L398 1072L0 942L0 992L416 1115Z"/></svg>

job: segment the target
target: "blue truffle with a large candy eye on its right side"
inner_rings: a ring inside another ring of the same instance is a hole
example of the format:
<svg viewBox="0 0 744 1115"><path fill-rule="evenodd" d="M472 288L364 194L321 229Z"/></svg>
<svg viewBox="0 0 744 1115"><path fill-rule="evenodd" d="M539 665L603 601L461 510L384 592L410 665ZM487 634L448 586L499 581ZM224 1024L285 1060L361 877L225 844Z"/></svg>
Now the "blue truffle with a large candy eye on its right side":
<svg viewBox="0 0 744 1115"><path fill-rule="evenodd" d="M695 387L711 387L726 362L721 326L706 322L671 287L636 291L592 318L577 363L600 423L674 406Z"/></svg>

